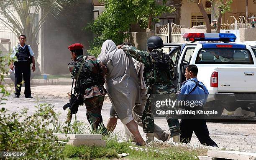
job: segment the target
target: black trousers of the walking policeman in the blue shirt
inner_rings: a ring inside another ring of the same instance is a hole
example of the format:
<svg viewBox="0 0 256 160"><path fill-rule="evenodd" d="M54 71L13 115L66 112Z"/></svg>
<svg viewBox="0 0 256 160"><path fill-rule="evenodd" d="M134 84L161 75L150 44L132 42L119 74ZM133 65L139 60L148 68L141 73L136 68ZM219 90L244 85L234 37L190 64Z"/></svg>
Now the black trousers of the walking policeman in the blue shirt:
<svg viewBox="0 0 256 160"><path fill-rule="evenodd" d="M210 145L213 147L218 147L218 145L210 138L210 133L204 119L182 119L180 121L180 130L182 133L180 136L180 141L182 143L190 143L194 131L200 143L207 146Z"/></svg>

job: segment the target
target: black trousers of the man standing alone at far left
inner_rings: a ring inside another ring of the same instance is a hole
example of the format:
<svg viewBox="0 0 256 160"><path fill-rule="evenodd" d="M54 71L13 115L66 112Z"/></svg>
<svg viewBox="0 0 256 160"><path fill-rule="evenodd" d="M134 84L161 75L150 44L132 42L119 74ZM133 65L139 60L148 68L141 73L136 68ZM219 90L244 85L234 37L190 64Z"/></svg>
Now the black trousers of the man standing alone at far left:
<svg viewBox="0 0 256 160"><path fill-rule="evenodd" d="M15 95L20 95L22 77L25 84L25 97L31 96L30 90L30 64L28 62L14 62L15 66ZM17 86L19 85L19 86Z"/></svg>

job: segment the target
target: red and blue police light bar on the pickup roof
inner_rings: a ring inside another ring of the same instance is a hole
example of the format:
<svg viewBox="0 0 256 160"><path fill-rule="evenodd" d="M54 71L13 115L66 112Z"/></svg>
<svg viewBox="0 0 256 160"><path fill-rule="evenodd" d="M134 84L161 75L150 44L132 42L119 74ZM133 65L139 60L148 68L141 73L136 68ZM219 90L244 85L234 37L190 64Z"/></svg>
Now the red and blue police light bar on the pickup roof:
<svg viewBox="0 0 256 160"><path fill-rule="evenodd" d="M185 33L183 35L185 41L221 41L235 42L236 35L233 33Z"/></svg>

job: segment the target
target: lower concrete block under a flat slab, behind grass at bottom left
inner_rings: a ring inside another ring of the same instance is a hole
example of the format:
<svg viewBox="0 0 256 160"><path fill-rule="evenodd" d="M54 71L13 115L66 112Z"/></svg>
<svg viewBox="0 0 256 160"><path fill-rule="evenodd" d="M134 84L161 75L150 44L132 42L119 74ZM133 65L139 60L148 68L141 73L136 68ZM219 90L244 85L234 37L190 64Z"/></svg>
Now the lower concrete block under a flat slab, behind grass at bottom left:
<svg viewBox="0 0 256 160"><path fill-rule="evenodd" d="M81 146L81 145L86 145L86 146L95 145L98 147L106 146L105 140L69 140L67 144L72 146Z"/></svg>

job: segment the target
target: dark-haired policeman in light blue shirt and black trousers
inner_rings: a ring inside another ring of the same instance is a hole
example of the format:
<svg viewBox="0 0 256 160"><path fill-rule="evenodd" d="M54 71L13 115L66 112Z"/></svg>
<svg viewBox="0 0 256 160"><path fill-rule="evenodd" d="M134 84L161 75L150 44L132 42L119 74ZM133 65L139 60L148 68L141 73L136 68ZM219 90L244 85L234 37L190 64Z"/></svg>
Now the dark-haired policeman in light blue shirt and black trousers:
<svg viewBox="0 0 256 160"><path fill-rule="evenodd" d="M182 87L178 92L178 100L194 100L201 101L202 105L205 105L208 90L202 82L197 80L197 66L188 65L185 71L186 81L182 83ZM188 95L192 96L188 96ZM181 137L180 141L182 143L190 143L193 131L197 136L200 143L207 146L218 147L218 145L210 138L210 133L206 125L205 119L182 119L180 121Z"/></svg>

